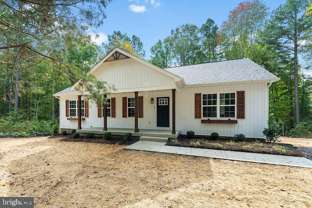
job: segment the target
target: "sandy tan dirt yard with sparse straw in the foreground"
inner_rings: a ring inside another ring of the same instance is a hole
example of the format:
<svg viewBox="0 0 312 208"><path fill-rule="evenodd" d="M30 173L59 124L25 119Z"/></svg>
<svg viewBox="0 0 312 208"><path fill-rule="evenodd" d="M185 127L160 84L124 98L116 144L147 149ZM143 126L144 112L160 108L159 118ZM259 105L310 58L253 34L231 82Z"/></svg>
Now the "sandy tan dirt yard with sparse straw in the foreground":
<svg viewBox="0 0 312 208"><path fill-rule="evenodd" d="M35 208L312 208L312 169L59 140L0 139L0 196Z"/></svg>

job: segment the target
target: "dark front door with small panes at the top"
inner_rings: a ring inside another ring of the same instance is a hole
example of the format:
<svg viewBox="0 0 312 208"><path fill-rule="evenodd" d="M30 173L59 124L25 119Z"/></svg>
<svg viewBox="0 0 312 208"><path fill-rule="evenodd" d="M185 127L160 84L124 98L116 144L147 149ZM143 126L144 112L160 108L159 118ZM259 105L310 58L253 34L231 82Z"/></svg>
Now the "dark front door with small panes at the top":
<svg viewBox="0 0 312 208"><path fill-rule="evenodd" d="M157 97L157 127L169 127L169 97Z"/></svg>

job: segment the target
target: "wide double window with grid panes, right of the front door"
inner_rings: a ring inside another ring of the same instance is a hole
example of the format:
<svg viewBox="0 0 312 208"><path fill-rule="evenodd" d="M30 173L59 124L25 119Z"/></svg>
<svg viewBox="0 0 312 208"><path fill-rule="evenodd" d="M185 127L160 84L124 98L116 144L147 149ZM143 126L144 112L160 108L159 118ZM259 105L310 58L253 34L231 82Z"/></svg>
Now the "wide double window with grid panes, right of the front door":
<svg viewBox="0 0 312 208"><path fill-rule="evenodd" d="M234 118L235 93L203 94L202 110L204 118Z"/></svg>

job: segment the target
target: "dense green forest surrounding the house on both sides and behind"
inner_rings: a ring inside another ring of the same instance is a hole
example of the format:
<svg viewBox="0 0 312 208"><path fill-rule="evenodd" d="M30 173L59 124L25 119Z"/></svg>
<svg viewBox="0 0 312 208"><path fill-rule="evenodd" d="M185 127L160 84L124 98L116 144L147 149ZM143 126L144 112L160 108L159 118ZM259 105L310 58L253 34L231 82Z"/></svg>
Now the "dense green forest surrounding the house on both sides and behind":
<svg viewBox="0 0 312 208"><path fill-rule="evenodd" d="M88 34L105 19L111 0L0 0L0 134L58 132L53 94L83 83L102 102L110 83L87 72L114 47L146 59L136 35L115 31L98 46ZM250 58L280 77L270 87L269 124L296 137L312 134L312 3L287 0L276 10L242 1L219 28L207 17L184 24L151 47L158 67ZM98 89L95 91L94 89ZM283 129L283 130L282 130Z"/></svg>

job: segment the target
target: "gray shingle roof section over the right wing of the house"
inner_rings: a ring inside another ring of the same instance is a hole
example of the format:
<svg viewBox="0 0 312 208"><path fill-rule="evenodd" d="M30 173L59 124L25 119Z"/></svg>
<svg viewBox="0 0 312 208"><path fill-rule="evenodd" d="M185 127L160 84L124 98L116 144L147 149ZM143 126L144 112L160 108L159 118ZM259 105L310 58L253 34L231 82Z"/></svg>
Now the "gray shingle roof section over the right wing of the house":
<svg viewBox="0 0 312 208"><path fill-rule="evenodd" d="M249 58L178 66L164 70L184 78L187 85L279 79Z"/></svg>

